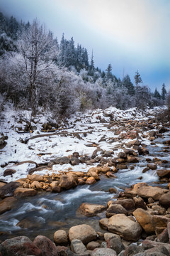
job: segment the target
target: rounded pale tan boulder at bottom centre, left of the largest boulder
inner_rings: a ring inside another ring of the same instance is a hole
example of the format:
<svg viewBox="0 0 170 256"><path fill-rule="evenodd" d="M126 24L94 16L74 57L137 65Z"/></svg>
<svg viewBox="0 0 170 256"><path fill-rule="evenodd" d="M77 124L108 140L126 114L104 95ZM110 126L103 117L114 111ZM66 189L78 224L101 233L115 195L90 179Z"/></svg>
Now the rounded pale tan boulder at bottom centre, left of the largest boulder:
<svg viewBox="0 0 170 256"><path fill-rule="evenodd" d="M81 224L69 229L69 240L81 240L84 244L96 240L97 233L90 225Z"/></svg>

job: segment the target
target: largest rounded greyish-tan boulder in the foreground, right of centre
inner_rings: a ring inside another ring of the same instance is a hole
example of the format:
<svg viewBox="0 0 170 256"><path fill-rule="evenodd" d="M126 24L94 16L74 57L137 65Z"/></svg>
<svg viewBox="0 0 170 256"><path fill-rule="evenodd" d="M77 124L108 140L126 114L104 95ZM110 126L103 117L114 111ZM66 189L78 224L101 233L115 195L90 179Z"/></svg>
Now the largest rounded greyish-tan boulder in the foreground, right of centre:
<svg viewBox="0 0 170 256"><path fill-rule="evenodd" d="M142 233L140 224L130 220L125 214L117 214L109 218L108 230L120 235L125 240L134 242L140 239Z"/></svg>

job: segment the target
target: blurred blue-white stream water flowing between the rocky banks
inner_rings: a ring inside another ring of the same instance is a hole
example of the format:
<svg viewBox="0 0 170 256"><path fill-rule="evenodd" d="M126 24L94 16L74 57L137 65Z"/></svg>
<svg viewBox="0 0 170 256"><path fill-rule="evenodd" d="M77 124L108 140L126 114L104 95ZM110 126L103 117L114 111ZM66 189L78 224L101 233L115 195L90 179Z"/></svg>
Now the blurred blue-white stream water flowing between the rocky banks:
<svg viewBox="0 0 170 256"><path fill-rule="evenodd" d="M154 141L154 145L147 146L149 156L140 156L140 163L134 164L133 170L118 171L116 174L118 178L101 176L101 180L92 186L77 186L62 193L39 193L31 198L20 199L13 210L0 215L0 240L18 235L27 235L30 239L34 239L36 235L46 235L53 239L56 230L68 231L73 225L83 223L91 225L96 231L102 231L98 220L105 218L105 213L88 218L79 213L81 203L98 203L106 206L111 198L114 200L115 195L108 192L111 187L116 188L119 193L137 182L147 182L155 186L159 181L157 171L149 170L142 174L142 170L147 166L148 157L167 160L168 164L158 168L170 168L170 149L165 149L166 146L162 144L164 140L169 139L169 135L166 133L164 139L158 138ZM140 176L142 176L141 181ZM166 186L166 184L159 186Z"/></svg>

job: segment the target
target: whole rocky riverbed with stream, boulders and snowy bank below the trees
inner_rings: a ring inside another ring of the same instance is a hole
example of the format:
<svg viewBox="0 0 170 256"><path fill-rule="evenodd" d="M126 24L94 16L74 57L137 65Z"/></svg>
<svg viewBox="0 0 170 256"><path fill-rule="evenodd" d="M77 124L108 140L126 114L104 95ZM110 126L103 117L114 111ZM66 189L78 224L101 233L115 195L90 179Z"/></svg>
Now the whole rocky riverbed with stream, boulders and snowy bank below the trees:
<svg viewBox="0 0 170 256"><path fill-rule="evenodd" d="M14 126L11 155L4 132L1 255L170 255L168 114L91 117L57 134L18 137Z"/></svg>

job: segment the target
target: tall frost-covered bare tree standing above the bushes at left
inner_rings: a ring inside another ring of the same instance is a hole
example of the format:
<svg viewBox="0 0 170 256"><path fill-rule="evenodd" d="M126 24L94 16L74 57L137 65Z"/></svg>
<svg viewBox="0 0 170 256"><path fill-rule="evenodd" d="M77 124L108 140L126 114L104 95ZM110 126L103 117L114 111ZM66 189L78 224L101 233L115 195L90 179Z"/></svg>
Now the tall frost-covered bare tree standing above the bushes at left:
<svg viewBox="0 0 170 256"><path fill-rule="evenodd" d="M51 79L53 61L57 55L57 44L52 33L40 26L38 21L24 28L18 38L18 53L21 55L20 65L26 72L32 115L38 110L38 90L44 85L44 79Z"/></svg>

